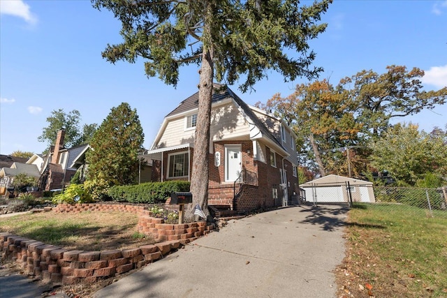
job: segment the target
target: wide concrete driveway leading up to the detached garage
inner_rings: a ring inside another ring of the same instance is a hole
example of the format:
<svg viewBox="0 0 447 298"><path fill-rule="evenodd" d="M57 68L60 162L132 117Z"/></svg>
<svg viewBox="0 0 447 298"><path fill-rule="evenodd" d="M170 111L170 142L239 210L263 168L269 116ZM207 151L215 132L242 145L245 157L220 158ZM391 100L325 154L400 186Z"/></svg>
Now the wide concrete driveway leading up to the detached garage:
<svg viewBox="0 0 447 298"><path fill-rule="evenodd" d="M336 297L346 213L301 205L230 221L94 297Z"/></svg>

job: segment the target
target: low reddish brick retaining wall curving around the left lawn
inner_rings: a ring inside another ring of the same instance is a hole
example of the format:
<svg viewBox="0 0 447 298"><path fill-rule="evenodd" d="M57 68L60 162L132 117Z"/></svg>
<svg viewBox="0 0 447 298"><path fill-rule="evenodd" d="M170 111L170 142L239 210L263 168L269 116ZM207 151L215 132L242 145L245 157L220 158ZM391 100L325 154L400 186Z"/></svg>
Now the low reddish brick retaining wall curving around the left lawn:
<svg viewBox="0 0 447 298"><path fill-rule="evenodd" d="M144 207L124 204L59 204L57 212L119 210L138 214L138 231L152 234L156 244L115 251L67 251L15 234L0 233L3 259L15 260L24 269L44 281L63 283L94 283L98 278L123 274L149 262L163 258L171 250L209 233L214 227L206 222L170 225L163 218L153 218Z"/></svg>

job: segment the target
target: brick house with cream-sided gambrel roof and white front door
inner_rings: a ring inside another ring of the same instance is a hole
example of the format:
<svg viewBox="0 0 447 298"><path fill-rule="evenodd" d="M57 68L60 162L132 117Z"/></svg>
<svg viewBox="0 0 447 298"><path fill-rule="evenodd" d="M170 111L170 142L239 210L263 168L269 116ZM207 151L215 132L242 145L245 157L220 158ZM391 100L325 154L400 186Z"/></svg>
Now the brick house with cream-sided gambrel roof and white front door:
<svg viewBox="0 0 447 298"><path fill-rule="evenodd" d="M147 152L154 181L191 178L197 112L198 93L163 120ZM215 84L208 204L238 211L287 205L298 193L295 139L284 121Z"/></svg>

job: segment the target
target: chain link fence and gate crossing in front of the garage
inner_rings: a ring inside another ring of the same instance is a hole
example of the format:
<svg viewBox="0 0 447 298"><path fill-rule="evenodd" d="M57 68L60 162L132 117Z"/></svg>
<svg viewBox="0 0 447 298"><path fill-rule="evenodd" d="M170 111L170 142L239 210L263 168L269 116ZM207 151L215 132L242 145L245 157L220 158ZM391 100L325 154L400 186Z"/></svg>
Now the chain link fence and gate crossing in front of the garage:
<svg viewBox="0 0 447 298"><path fill-rule="evenodd" d="M364 181L362 181L364 182ZM367 204L381 209L399 209L411 216L447 218L447 187L406 188L365 183L330 183L301 186L307 204Z"/></svg>

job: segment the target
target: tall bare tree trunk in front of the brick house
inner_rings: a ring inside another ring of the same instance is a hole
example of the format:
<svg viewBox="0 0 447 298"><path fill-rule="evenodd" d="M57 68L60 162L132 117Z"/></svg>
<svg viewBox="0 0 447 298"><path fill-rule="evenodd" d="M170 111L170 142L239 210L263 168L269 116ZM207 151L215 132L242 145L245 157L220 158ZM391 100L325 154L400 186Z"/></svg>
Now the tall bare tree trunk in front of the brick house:
<svg viewBox="0 0 447 298"><path fill-rule="evenodd" d="M209 36L210 27L203 28L203 35ZM192 209L187 219L194 217L193 211L199 204L202 211L209 217L208 211L208 180L210 174L210 119L214 78L214 51L212 43L204 42L202 66L200 68L200 83L198 91L198 114L196 137L194 140L193 162L191 172L191 193L193 194Z"/></svg>

